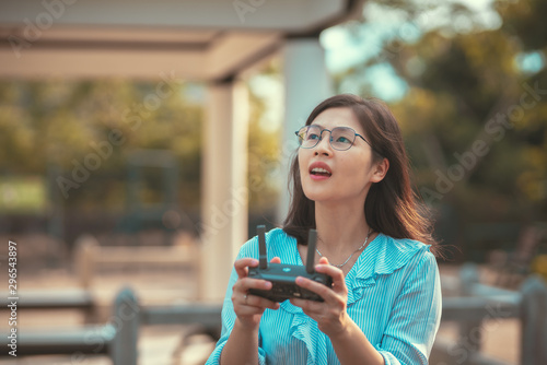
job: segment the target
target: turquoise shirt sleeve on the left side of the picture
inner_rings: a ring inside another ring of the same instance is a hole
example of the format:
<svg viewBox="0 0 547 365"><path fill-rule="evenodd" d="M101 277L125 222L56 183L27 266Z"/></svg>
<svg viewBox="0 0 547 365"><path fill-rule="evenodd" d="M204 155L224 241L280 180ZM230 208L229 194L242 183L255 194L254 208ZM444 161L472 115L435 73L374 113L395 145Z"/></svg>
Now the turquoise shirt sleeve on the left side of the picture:
<svg viewBox="0 0 547 365"><path fill-rule="evenodd" d="M249 244L252 242L255 242L255 245L256 245L255 238L247 242L241 248L236 260L244 258L244 257L256 258L256 255L252 255L251 250L248 249ZM235 318L236 318L233 303L232 303L232 287L234 286L236 281L237 281L237 273L235 272L235 269L232 267L232 273L230 274L230 280L228 282L226 295L224 296L224 302L222 305L222 331L220 334L220 339L217 342L217 345L214 346L213 352L211 353L211 355L207 360L206 365L220 364L220 355L222 353L222 349L224 349L224 345L226 344L226 341L230 338L230 333L232 333L232 329L234 327L234 322L235 322ZM266 365L266 353L260 346L258 348L258 363L260 365Z"/></svg>

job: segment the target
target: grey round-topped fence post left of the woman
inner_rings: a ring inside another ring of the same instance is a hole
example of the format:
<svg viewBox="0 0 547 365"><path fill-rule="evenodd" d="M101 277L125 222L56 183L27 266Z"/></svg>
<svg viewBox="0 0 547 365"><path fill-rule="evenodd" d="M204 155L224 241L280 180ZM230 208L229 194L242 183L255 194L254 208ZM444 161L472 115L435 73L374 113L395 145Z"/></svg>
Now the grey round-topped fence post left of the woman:
<svg viewBox="0 0 547 365"><path fill-rule="evenodd" d="M113 365L137 365L137 340L139 337L140 308L131 289L119 292L114 303L110 323L116 335L109 349Z"/></svg>

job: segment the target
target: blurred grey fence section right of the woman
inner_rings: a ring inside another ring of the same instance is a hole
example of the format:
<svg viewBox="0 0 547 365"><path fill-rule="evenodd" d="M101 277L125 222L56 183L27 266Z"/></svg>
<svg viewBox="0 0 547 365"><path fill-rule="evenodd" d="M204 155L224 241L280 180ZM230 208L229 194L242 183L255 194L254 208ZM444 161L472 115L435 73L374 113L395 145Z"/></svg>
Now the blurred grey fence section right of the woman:
<svg viewBox="0 0 547 365"><path fill-rule="evenodd" d="M442 309L442 321L458 323L459 338L454 343L438 337L431 360L440 364L502 364L480 352L485 321L517 318L522 329L520 364L547 364L546 283L538 276L529 276L520 292L484 285L473 263L464 264L459 275L461 296L443 297ZM455 287L452 281L445 282Z"/></svg>

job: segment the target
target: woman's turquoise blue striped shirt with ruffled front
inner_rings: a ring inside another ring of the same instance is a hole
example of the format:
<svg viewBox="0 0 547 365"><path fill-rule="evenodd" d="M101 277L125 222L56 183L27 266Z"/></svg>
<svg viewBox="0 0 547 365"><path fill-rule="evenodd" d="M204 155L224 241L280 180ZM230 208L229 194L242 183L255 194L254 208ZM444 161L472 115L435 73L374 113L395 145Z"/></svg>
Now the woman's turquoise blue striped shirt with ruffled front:
<svg viewBox="0 0 547 365"><path fill-rule="evenodd" d="M268 260L303 264L296 239L275 228L266 235ZM237 259L258 258L257 237L242 246ZM232 270L222 307L222 333L207 364L219 364L234 326ZM427 364L441 320L439 270L429 246L379 234L346 275L347 311L385 364ZM258 338L259 364L339 364L333 344L317 322L289 301L266 309ZM356 361L358 363L358 361Z"/></svg>

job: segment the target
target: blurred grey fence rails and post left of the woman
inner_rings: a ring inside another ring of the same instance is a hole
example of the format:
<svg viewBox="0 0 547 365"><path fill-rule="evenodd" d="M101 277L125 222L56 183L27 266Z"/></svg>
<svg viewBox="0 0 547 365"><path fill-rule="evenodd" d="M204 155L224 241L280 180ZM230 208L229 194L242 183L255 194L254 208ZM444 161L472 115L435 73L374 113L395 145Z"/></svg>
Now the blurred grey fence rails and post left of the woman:
<svg viewBox="0 0 547 365"><path fill-rule="evenodd" d="M51 297L51 294L48 297ZM45 298L35 297L35 299L42 304L46 302ZM220 305L141 307L133 291L124 289L116 296L113 315L106 325L59 328L54 331L27 329L18 331L18 356L66 354L82 357L105 354L112 360L113 365L136 365L140 326L189 325L187 331L182 333L182 342L177 349L179 352L191 334L207 333L218 338L220 313ZM8 333L0 335L5 338ZM0 354L0 356L8 355L7 352Z"/></svg>

